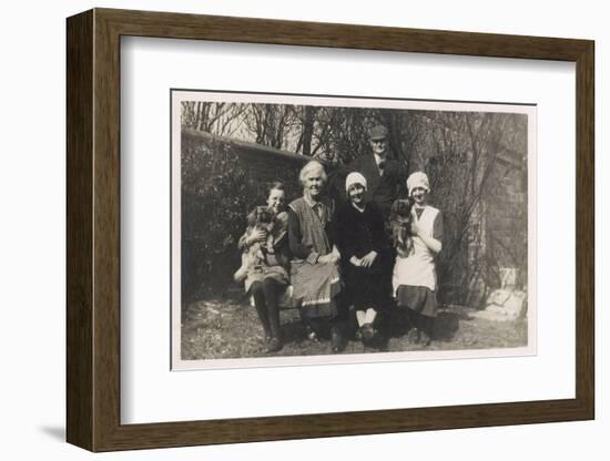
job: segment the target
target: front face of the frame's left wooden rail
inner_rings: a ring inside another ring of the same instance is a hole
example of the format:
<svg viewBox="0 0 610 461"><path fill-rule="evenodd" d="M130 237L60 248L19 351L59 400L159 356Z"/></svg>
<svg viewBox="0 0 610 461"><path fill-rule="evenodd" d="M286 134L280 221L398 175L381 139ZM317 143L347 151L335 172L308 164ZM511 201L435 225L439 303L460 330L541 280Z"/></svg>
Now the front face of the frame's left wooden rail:
<svg viewBox="0 0 610 461"><path fill-rule="evenodd" d="M120 37L96 11L93 141L93 367L94 450L108 444L120 421ZM100 332L100 334L98 334Z"/></svg>

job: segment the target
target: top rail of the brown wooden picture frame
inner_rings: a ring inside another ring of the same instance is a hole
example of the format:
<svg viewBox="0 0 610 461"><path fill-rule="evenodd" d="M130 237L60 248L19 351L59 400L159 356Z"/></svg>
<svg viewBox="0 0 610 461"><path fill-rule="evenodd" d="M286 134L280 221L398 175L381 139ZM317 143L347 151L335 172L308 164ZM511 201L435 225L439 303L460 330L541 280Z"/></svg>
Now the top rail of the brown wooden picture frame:
<svg viewBox="0 0 610 461"><path fill-rule="evenodd" d="M123 35L576 61L584 40L96 9Z"/></svg>

